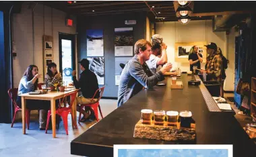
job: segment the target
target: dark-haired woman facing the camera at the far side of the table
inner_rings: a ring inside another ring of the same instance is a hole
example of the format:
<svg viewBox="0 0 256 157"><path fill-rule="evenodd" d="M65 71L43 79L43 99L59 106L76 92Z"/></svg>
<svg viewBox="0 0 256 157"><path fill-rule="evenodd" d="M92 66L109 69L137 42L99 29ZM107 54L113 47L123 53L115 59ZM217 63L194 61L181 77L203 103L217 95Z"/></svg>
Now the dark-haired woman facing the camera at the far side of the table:
<svg viewBox="0 0 256 157"><path fill-rule="evenodd" d="M46 84L46 87L62 84L61 73L58 73L57 65L54 62L51 62L48 65L47 73L44 76L44 83Z"/></svg>

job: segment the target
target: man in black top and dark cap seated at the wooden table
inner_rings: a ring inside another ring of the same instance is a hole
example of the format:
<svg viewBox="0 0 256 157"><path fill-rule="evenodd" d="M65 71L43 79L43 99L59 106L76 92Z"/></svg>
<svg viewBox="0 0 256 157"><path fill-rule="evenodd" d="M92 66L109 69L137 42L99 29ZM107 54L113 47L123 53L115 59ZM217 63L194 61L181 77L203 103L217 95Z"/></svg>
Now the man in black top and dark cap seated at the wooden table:
<svg viewBox="0 0 256 157"><path fill-rule="evenodd" d="M92 72L89 69L89 60L82 59L80 62L80 69L82 70L82 73L80 74L79 81L76 79L76 71L73 70L72 76L73 76L73 85L75 85L76 89L81 89L82 95L77 97L77 111L80 112L80 106L81 104L89 104L89 103L95 103L98 101L98 97L100 97L100 93L96 93L98 90L98 79L96 74ZM94 93L96 93L94 97ZM94 99L92 100L92 97ZM91 101L92 100L92 101ZM81 119L81 121L86 121L87 119L95 119L94 110L91 107L86 107L86 110L82 110L82 114L84 117Z"/></svg>

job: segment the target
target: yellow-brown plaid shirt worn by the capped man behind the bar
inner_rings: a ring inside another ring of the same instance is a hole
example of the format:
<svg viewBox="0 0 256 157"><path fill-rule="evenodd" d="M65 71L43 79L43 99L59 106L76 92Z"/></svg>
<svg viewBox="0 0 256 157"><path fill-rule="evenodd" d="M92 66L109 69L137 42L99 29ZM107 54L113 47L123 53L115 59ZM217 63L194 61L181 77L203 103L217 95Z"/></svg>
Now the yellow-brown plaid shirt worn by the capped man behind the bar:
<svg viewBox="0 0 256 157"><path fill-rule="evenodd" d="M210 81L221 81L222 58L215 54L207 58L206 72Z"/></svg>

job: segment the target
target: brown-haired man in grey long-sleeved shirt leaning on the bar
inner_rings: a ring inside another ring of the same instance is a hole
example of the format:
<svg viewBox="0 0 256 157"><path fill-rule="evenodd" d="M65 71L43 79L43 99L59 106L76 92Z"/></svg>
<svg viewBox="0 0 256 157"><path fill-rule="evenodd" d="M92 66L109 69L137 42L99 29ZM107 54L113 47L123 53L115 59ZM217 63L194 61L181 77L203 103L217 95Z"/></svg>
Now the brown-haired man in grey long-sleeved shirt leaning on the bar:
<svg viewBox="0 0 256 157"><path fill-rule="evenodd" d="M167 63L155 74L148 76L143 64L150 59L152 44L147 40L138 40L134 46L135 55L125 64L121 73L120 85L118 90L117 105L120 107L133 95L141 91L143 87L151 88L159 81L164 80L164 72L172 68L172 64Z"/></svg>

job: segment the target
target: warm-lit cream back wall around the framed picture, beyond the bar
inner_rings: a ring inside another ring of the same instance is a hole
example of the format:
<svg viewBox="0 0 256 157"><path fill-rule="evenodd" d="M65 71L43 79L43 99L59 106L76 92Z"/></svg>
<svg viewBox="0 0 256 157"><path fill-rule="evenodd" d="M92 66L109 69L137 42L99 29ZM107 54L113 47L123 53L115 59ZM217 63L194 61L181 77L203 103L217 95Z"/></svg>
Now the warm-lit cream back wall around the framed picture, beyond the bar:
<svg viewBox="0 0 256 157"><path fill-rule="evenodd" d="M160 34L167 44L168 62L171 62L173 67L179 67L182 71L189 71L189 60L187 63L174 61L174 44L175 42L215 42L222 49L224 56L228 56L230 64L226 70L225 91L234 90L234 32L226 36L226 32L213 32L212 20L190 21L186 25L179 21L159 22L156 23L156 34ZM228 40L229 42L227 42ZM201 63L201 68L204 68L205 63Z"/></svg>

